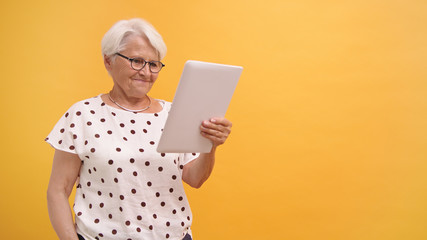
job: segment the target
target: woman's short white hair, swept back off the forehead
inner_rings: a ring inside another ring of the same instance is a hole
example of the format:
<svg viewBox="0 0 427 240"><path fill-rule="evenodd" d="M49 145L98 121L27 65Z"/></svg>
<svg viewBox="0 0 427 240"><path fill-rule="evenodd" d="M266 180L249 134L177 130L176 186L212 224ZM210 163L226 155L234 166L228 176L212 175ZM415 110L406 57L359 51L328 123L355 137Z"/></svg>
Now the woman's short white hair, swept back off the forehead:
<svg viewBox="0 0 427 240"><path fill-rule="evenodd" d="M126 38L131 35L147 37L154 49L157 50L160 60L165 57L167 48L162 36L153 25L140 18L121 20L115 23L102 38L102 56L111 57L124 50Z"/></svg>

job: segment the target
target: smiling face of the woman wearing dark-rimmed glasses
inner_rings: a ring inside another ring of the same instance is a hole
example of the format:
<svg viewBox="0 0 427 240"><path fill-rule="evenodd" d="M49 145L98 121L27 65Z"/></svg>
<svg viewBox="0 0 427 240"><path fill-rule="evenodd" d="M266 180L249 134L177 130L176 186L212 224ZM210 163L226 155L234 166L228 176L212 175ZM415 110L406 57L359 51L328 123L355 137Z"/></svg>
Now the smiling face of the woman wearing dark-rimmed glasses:
<svg viewBox="0 0 427 240"><path fill-rule="evenodd" d="M146 37L131 35L126 39L125 50L120 52L129 58L143 58L146 61L159 61L157 51ZM114 61L105 59L105 67L114 81L114 88L131 98L143 98L151 89L159 73L152 73L148 64L136 71L129 60L116 55Z"/></svg>

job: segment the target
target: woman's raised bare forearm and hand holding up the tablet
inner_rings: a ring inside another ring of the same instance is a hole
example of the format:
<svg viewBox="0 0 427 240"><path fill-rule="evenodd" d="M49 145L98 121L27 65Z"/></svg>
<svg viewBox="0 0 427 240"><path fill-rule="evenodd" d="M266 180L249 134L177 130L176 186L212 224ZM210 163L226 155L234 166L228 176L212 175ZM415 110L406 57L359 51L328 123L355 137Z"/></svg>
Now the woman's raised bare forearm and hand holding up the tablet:
<svg viewBox="0 0 427 240"><path fill-rule="evenodd" d="M194 188L200 188L208 180L215 165L215 151L224 144L231 132L231 122L225 118L212 118L204 121L200 126L202 136L211 140L210 153L202 153L200 156L184 165L182 179Z"/></svg>

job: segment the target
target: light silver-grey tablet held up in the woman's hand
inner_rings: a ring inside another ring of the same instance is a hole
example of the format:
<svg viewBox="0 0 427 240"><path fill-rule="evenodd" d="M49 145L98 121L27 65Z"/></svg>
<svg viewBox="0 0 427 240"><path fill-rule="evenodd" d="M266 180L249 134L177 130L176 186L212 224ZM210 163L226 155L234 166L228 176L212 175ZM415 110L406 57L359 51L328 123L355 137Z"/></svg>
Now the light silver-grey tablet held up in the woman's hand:
<svg viewBox="0 0 427 240"><path fill-rule="evenodd" d="M225 116L242 70L240 66L187 61L157 151L210 152L212 143L200 134L200 125Z"/></svg>

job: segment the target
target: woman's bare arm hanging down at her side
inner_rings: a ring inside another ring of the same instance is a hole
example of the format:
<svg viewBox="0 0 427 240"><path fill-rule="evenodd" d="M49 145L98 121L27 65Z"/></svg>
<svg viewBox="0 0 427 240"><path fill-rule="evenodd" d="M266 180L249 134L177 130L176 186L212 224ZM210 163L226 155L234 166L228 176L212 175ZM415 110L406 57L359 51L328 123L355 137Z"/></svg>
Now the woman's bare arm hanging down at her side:
<svg viewBox="0 0 427 240"><path fill-rule="evenodd" d="M80 166L78 155L55 151L47 190L47 206L53 229L60 240L78 240L68 197L79 175Z"/></svg>

